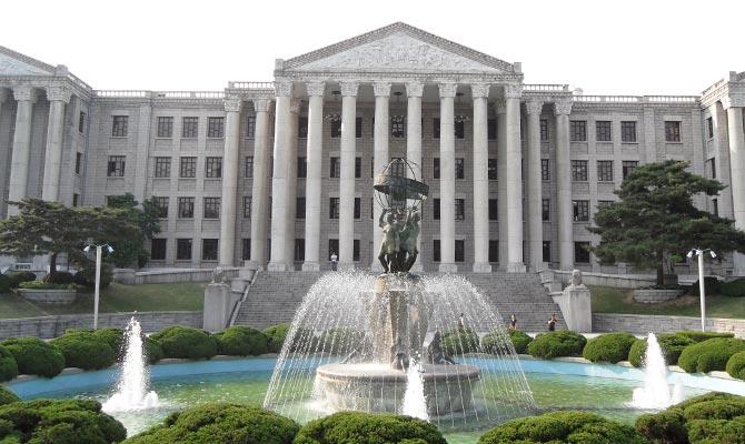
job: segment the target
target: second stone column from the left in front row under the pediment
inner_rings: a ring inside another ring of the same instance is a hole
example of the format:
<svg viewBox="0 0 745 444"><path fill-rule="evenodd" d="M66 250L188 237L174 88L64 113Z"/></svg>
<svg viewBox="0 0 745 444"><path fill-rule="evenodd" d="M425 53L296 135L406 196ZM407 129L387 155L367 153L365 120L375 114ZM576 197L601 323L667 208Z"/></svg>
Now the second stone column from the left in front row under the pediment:
<svg viewBox="0 0 745 444"><path fill-rule="evenodd" d="M306 162L306 259L302 271L320 270L321 164L324 160L324 93L326 83L307 83L308 148Z"/></svg>

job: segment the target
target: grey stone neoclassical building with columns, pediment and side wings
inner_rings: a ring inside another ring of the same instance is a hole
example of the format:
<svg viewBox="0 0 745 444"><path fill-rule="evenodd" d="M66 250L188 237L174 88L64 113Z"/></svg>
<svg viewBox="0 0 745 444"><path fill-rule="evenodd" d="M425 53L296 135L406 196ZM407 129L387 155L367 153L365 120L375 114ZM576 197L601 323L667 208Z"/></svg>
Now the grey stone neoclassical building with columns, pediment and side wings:
<svg viewBox="0 0 745 444"><path fill-rule="evenodd" d="M372 178L406 158L430 185L425 271L630 273L587 251L593 213L637 165L681 159L728 185L697 205L745 229L742 72L695 97L584 95L394 23L279 59L274 75L100 91L0 47L0 216L17 211L7 200L131 192L161 209L152 266L315 271L337 253L376 269ZM745 261L722 271L745 274Z"/></svg>

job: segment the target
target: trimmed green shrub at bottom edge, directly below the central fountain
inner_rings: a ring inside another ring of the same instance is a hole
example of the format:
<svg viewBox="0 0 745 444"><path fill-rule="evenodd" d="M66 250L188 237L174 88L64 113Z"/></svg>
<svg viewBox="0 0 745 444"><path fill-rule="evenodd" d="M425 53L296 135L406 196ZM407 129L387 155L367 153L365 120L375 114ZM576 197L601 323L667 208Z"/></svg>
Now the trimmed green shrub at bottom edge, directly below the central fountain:
<svg viewBox="0 0 745 444"><path fill-rule="evenodd" d="M292 444L446 444L437 426L410 416L339 412L306 424Z"/></svg>

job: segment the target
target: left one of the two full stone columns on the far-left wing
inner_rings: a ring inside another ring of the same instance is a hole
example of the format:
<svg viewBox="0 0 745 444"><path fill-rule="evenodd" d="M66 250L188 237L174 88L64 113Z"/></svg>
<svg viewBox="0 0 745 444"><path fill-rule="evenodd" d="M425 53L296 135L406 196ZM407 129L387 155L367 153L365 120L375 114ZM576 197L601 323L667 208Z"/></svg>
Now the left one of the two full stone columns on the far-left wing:
<svg viewBox="0 0 745 444"><path fill-rule="evenodd" d="M36 92L31 87L13 88L13 98L18 101L16 109L16 131L13 132L13 152L10 160L10 182L8 200L20 201L27 196L29 178L29 157L31 154L31 118ZM16 205L8 205L8 215L18 214Z"/></svg>

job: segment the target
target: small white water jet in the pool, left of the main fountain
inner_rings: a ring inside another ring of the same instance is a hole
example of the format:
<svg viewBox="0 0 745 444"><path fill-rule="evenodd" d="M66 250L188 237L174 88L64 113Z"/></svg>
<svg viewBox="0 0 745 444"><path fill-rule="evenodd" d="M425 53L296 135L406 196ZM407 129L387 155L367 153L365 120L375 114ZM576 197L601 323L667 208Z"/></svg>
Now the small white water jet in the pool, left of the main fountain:
<svg viewBox="0 0 745 444"><path fill-rule="evenodd" d="M158 394L148 391L150 381L146 356L142 352L142 329L133 316L125 329L122 346L126 353L117 389L103 402L101 408L106 413L113 413L157 407L159 405Z"/></svg>

